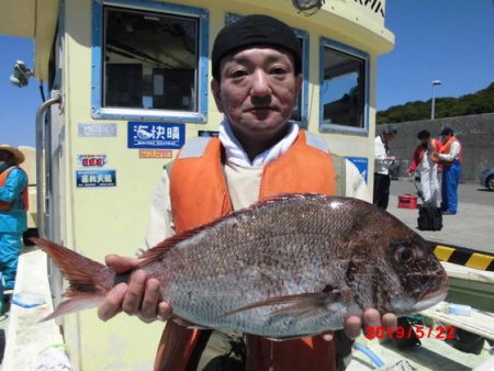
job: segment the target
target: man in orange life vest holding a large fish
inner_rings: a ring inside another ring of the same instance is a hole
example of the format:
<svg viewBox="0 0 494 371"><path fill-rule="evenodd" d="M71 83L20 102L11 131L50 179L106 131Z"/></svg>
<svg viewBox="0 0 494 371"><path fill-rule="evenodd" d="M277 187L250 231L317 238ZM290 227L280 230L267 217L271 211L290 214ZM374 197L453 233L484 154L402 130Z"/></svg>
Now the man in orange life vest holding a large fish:
<svg viewBox="0 0 494 371"><path fill-rule="evenodd" d="M276 193L318 192L369 201L357 168L338 160L322 138L290 121L302 85L301 65L297 37L273 18L247 15L218 33L212 52L211 89L225 119L218 138L188 140L171 168L162 172L151 205L147 248ZM106 257L116 271L128 270L137 261ZM159 302L158 284L137 271L128 283L106 295L98 311L100 318L110 319L122 311L145 322L169 318L172 308ZM381 317L367 308L363 318L347 318L345 334L287 341L236 331L200 331L168 321L155 370L343 369L343 359L351 349L349 339L360 334L362 323L395 326L396 317ZM338 341L332 341L333 337Z"/></svg>

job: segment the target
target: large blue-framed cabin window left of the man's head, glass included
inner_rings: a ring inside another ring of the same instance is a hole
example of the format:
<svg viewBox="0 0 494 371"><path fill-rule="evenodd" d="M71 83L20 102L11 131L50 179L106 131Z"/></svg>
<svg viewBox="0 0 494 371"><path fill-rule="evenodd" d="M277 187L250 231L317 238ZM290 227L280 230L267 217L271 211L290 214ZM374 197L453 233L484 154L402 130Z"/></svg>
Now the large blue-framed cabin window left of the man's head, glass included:
<svg viewBox="0 0 494 371"><path fill-rule="evenodd" d="M100 9L102 26L94 38L101 41L101 48L93 53L93 61L100 58L93 64L93 114L205 122L205 11L143 4L150 9Z"/></svg>

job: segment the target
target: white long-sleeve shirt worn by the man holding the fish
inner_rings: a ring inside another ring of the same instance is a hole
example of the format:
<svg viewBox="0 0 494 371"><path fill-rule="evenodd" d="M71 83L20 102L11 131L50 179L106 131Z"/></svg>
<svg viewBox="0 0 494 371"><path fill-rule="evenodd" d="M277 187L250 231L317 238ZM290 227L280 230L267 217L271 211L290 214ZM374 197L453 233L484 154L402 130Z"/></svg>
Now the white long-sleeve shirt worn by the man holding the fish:
<svg viewBox="0 0 494 371"><path fill-rule="evenodd" d="M299 127L293 125L289 134L272 148L260 154L250 161L233 136L227 123L220 127L220 140L225 147L225 177L234 210L251 205L258 201L262 168L270 161L284 154L295 140ZM252 165L256 164L256 165ZM352 196L370 202L366 181L357 167L346 160L346 196ZM170 202L170 179L166 170L159 178L158 186L153 195L149 222L144 246L137 251L151 248L167 237L175 234Z"/></svg>

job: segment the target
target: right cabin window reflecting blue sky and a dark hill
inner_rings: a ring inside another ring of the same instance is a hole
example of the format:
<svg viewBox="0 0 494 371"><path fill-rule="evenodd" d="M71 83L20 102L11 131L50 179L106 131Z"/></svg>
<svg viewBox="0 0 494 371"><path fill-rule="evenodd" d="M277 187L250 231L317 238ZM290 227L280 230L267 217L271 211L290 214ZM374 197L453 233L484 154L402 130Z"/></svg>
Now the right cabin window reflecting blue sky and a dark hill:
<svg viewBox="0 0 494 371"><path fill-rule="evenodd" d="M369 56L323 38L319 131L368 134Z"/></svg>

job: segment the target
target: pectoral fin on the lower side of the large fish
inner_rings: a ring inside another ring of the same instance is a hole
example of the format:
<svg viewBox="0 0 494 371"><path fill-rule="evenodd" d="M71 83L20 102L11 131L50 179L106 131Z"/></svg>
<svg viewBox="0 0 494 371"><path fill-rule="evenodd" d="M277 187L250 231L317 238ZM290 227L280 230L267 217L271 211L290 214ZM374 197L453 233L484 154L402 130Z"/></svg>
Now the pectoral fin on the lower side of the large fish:
<svg viewBox="0 0 494 371"><path fill-rule="evenodd" d="M270 297L260 302L245 305L243 307L233 310L224 314L224 316L231 316L236 313L250 311L263 306L284 305L279 310L272 311L270 316L292 314L297 317L307 318L317 315L325 308L327 303L330 303L338 299L339 292L316 292L316 293L303 293L296 295L287 295Z"/></svg>

